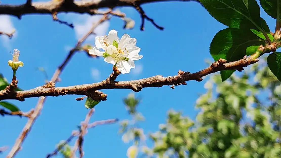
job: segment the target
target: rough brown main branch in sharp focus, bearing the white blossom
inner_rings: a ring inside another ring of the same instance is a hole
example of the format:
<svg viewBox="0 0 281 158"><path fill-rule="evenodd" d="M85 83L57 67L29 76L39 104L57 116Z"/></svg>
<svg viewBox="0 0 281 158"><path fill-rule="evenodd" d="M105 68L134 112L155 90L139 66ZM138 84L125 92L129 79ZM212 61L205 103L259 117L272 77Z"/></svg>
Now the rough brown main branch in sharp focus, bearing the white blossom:
<svg viewBox="0 0 281 158"><path fill-rule="evenodd" d="M83 85L76 85L76 86L68 86L68 87L56 87L56 88L42 88L37 87L31 90L25 91L17 91L16 93L3 93L0 92L0 100L4 99L17 99L17 100L24 100L24 98L30 97L39 97L39 96L58 96L58 95L67 95L67 94L74 94L74 95L88 95L95 94L97 90L103 89L131 89L135 92L140 91L142 88L147 87L162 87L164 85L180 85L185 83L185 81L196 80L202 81L203 76L208 74L221 71L221 70L230 70L230 69L237 69L243 70L243 67L247 67L253 63L256 63L259 59L253 59L251 56L247 57L244 56L243 59L238 61L226 63L226 60L219 59L212 63L212 65L208 68L205 68L199 72L195 72L191 74L190 72L181 72L175 76L168 76L163 77L162 75L156 75L153 77L148 77L139 80L133 81L112 81L108 82L109 79L101 81L99 83L92 83L92 84L83 84ZM103 98L101 95L102 92L99 92L100 95L92 97L93 99L100 99ZM98 101L98 100L97 100Z"/></svg>

